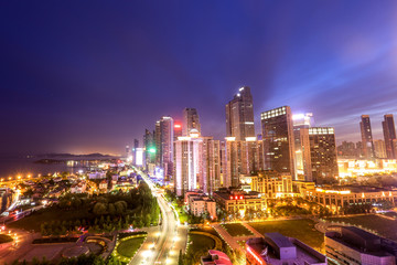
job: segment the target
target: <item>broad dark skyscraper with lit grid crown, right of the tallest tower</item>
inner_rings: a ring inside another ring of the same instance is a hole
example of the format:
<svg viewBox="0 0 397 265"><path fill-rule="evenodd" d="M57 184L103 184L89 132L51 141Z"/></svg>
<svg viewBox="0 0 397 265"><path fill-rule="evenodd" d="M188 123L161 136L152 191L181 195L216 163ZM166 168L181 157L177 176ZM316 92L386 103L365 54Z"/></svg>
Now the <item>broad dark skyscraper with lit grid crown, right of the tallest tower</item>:
<svg viewBox="0 0 397 265"><path fill-rule="evenodd" d="M265 169L288 172L294 177L294 138L290 107L264 112L260 119Z"/></svg>

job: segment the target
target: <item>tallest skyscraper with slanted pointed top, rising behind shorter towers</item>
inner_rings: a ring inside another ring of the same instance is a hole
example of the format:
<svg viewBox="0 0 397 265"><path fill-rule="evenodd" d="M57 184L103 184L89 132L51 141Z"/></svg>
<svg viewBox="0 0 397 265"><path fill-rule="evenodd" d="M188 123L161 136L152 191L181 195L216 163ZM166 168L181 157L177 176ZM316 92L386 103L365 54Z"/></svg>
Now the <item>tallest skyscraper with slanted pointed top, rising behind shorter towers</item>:
<svg viewBox="0 0 397 265"><path fill-rule="evenodd" d="M236 140L255 137L253 95L248 86L239 88L226 104L226 136Z"/></svg>

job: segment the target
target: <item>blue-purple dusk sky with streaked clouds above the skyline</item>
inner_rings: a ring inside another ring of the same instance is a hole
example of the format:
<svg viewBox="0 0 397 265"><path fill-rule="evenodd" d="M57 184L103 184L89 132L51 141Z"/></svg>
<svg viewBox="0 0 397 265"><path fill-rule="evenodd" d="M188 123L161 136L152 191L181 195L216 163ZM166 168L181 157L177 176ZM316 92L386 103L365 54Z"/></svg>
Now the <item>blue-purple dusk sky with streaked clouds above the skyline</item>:
<svg viewBox="0 0 397 265"><path fill-rule="evenodd" d="M397 115L396 1L1 1L0 153L122 153L162 115L195 107L225 136L251 87L360 139Z"/></svg>

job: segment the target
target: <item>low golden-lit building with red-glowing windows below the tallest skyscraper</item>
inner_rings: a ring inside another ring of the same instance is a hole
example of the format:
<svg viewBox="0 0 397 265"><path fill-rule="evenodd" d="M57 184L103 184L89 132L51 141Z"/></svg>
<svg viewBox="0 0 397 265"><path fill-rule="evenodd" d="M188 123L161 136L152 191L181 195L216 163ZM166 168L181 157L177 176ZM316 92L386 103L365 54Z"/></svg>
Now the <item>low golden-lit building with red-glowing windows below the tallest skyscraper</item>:
<svg viewBox="0 0 397 265"><path fill-rule="evenodd" d="M266 209L266 198L256 191L219 190L214 192L214 200L227 213L239 212L244 215L248 209L255 211Z"/></svg>

